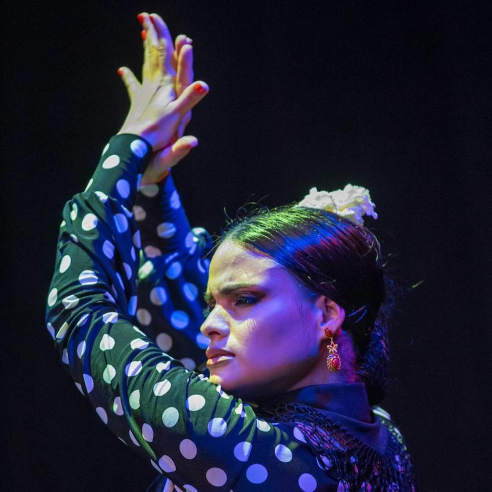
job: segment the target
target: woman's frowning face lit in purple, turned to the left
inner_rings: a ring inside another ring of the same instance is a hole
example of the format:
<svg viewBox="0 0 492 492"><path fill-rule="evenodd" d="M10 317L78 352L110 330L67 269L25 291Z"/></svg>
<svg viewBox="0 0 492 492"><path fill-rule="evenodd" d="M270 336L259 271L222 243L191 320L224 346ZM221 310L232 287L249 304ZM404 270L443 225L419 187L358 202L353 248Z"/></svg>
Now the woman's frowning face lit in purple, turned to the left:
<svg viewBox="0 0 492 492"><path fill-rule="evenodd" d="M320 361L313 301L272 258L224 241L210 263L201 325L210 381L250 402L289 391ZM230 356L213 357L215 349Z"/></svg>

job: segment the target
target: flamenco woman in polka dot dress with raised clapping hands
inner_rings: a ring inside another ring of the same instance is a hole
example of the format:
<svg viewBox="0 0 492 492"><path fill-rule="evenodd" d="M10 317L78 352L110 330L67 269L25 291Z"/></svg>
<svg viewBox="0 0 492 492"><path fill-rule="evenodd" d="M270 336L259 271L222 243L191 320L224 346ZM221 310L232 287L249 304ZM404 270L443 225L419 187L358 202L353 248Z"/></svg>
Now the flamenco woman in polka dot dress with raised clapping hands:
<svg viewBox="0 0 492 492"><path fill-rule="evenodd" d="M131 108L66 204L48 296L79 391L159 471L150 490L414 490L401 435L370 406L387 363L376 238L308 199L235 224L207 274L211 241L167 170L197 144L183 130L208 87L189 38L139 20L142 84L120 69Z"/></svg>

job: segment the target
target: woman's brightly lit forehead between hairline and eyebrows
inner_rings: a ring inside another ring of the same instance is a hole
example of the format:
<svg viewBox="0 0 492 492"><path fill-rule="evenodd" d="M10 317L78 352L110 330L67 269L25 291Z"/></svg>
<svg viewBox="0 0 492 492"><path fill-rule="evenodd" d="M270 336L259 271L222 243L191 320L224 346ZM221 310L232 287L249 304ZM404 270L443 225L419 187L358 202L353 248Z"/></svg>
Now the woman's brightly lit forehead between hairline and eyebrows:
<svg viewBox="0 0 492 492"><path fill-rule="evenodd" d="M217 248L210 263L209 288L226 282L265 282L282 274L287 275L273 258L226 240Z"/></svg>

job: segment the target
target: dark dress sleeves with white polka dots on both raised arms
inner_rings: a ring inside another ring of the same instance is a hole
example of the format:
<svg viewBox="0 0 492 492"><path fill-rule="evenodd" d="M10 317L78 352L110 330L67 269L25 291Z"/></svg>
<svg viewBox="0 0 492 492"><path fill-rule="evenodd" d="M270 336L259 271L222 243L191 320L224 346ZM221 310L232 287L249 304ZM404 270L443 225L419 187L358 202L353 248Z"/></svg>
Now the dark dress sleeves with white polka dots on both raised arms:
<svg viewBox="0 0 492 492"><path fill-rule="evenodd" d="M258 418L200 373L211 241L190 228L171 176L139 188L151 152L111 138L63 211L47 330L75 386L155 468L153 490L345 490L298 428Z"/></svg>

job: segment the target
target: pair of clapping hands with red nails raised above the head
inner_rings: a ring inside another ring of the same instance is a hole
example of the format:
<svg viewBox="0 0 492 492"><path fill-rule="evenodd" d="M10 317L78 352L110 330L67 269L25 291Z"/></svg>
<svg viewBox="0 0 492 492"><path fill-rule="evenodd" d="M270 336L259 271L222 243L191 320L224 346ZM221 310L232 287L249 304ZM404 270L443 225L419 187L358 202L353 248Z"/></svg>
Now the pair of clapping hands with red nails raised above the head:
<svg viewBox="0 0 492 492"><path fill-rule="evenodd" d="M197 145L195 137L183 136L183 132L191 118L191 108L208 93L208 86L203 81L192 82L191 39L179 35L173 46L159 15L144 12L138 17L144 28L142 84L129 68L118 71L131 101L119 133L136 133L152 145L154 156L142 178L142 183L148 184L158 181L167 168Z"/></svg>

